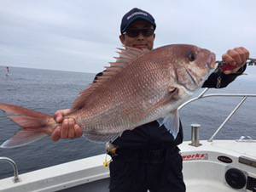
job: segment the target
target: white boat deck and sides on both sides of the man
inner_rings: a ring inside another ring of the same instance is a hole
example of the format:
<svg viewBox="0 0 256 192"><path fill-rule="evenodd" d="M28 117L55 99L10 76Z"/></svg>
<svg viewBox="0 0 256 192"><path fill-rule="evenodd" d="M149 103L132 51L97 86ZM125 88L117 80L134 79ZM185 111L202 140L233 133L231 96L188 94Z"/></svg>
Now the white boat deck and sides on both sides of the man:
<svg viewBox="0 0 256 192"><path fill-rule="evenodd" d="M183 155L183 176L188 192L237 191L225 180L225 173L230 168L241 170L247 178L253 178L256 187L256 141L201 141L202 145L199 147L191 146L189 143L183 142L179 146ZM219 156L229 157L232 162L219 161ZM250 166L241 163L240 157L247 158L255 164ZM104 159L105 155L96 155L27 172L20 175L20 182L16 184L12 178L5 178L0 180L0 191L108 191L109 172L108 168L102 165ZM246 188L247 186L244 186L239 191L253 191Z"/></svg>

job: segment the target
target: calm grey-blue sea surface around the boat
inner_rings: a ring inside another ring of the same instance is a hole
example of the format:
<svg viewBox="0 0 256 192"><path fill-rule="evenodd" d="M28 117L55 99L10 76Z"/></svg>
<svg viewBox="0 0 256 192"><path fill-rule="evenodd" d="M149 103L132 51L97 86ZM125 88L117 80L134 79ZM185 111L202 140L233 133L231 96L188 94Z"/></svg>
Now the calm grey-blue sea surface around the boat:
<svg viewBox="0 0 256 192"><path fill-rule="evenodd" d="M248 66L247 75L240 76L228 88L211 89L209 93L256 93L256 67ZM0 66L0 103L22 105L53 115L56 110L70 108L79 92L88 87L95 74L71 71L48 71L10 67L6 76ZM202 89L201 89L202 91ZM229 115L230 110L241 99L209 98L189 104L180 111L183 121L184 139L190 139L190 124L201 124L201 139L207 139ZM256 98L247 99L241 109L224 126L216 138L256 138ZM0 144L12 137L17 127L0 111ZM85 138L52 142L43 138L35 143L17 149L0 149L0 156L12 158L20 173L74 161L104 153L104 144L96 144ZM102 160L103 161L103 160ZM12 167L0 162L0 178L12 176Z"/></svg>

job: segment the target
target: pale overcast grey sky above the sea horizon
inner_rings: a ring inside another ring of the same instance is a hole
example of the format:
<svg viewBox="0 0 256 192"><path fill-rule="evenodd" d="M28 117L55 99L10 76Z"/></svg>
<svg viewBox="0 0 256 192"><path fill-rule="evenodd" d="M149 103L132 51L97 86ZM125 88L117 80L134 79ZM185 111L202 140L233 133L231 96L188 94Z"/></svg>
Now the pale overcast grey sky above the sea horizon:
<svg viewBox="0 0 256 192"><path fill-rule="evenodd" d="M154 48L186 43L256 58L255 0L0 0L0 65L96 73L117 56L131 8L154 16Z"/></svg>

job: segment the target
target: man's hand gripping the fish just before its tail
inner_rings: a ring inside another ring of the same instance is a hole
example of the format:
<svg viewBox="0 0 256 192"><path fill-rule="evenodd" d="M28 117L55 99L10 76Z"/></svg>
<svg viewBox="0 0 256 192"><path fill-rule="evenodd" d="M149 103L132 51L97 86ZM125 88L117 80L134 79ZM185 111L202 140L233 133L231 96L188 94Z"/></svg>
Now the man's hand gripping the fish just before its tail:
<svg viewBox="0 0 256 192"><path fill-rule="evenodd" d="M83 134L82 128L76 124L73 118L64 119L71 110L57 110L55 112L55 121L62 123L61 126L55 127L54 132L51 134L53 141L58 141L60 138L80 138Z"/></svg>

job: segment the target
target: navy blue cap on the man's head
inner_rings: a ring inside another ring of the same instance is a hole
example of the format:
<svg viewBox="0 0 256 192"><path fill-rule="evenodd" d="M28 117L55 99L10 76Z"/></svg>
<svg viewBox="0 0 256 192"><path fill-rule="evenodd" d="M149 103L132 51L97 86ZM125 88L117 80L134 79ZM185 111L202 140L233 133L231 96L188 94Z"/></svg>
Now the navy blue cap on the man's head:
<svg viewBox="0 0 256 192"><path fill-rule="evenodd" d="M146 20L154 26L154 29L156 27L154 23L154 17L151 14L148 14L148 12L139 8L132 8L127 14L123 16L120 27L121 33L124 33L128 27L136 20Z"/></svg>

